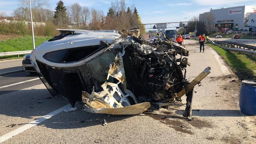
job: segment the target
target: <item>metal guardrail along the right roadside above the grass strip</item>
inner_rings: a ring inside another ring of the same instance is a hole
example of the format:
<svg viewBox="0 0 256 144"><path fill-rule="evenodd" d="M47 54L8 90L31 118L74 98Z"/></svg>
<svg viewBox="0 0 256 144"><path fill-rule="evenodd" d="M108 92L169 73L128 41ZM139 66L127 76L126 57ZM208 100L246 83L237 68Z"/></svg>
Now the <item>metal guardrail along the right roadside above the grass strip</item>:
<svg viewBox="0 0 256 144"><path fill-rule="evenodd" d="M222 49L226 50L232 50L235 52L243 53L246 55L251 55L256 57L256 47L246 44L239 44L236 42L229 42L229 41L209 41L211 44L217 45L218 47L221 47Z"/></svg>

